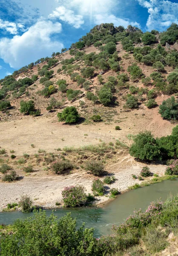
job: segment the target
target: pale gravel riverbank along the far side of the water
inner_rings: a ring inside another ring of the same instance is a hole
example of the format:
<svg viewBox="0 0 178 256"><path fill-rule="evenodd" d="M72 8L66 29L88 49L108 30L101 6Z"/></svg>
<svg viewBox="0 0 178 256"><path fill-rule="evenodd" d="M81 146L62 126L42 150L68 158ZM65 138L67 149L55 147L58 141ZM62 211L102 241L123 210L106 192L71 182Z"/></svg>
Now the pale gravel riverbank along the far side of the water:
<svg viewBox="0 0 178 256"><path fill-rule="evenodd" d="M120 193L124 193L128 191L129 186L133 186L136 183L142 186L141 184L143 181L133 179L132 174L139 175L143 166L145 166L145 164L136 162L128 155L119 158L117 163L109 166L107 169L108 174L114 175L116 181L111 185L106 185L106 195L96 197L95 205L103 207L103 205L106 205L109 201L113 200L110 198L110 188L117 188ZM166 166L150 165L149 168L151 172L163 177ZM158 177L158 180L160 180L160 177ZM42 177L42 174L40 175L39 171L36 174L34 173L23 177L23 179L18 182L1 183L0 210L3 211L8 203L18 203L21 195L29 195L32 198L34 205L38 205L45 209L58 208L56 202L62 203L61 192L64 187L80 184L85 187L87 193L92 193L92 181L94 178L93 175L89 175L85 171L76 171L66 176L46 175L45 177ZM153 177L146 178L145 180L148 182L150 179L152 180ZM60 207L62 207L62 204Z"/></svg>

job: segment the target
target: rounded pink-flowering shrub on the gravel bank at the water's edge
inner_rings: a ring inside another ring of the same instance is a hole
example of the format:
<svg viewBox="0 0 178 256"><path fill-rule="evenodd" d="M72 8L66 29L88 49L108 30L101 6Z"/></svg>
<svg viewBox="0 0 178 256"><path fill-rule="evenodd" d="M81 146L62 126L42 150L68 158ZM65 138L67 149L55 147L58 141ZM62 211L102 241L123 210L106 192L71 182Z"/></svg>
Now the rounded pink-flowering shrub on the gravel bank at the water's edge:
<svg viewBox="0 0 178 256"><path fill-rule="evenodd" d="M69 186L62 191L65 207L80 207L87 203L87 195L83 186Z"/></svg>

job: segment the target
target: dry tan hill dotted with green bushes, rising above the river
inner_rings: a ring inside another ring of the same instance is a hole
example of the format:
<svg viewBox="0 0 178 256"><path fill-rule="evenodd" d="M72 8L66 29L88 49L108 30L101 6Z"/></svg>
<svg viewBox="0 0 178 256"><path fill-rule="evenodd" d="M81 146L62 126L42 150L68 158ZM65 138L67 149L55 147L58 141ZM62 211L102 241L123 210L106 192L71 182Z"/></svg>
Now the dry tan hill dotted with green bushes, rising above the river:
<svg viewBox="0 0 178 256"><path fill-rule="evenodd" d="M35 171L18 182L9 201L18 197L23 183L21 193L34 192L32 197L39 195L37 202L49 207L61 200L61 190L74 180L76 184L84 179L83 184L91 192L95 177L84 171L86 159L102 160L106 170L118 178L118 183L112 186L117 186L119 191L135 184L131 175L133 172L138 175L145 163L136 162L128 153L133 137L145 130L155 137L170 135L178 119L176 103L169 109L169 115L159 113L162 102L171 96L177 100L177 41L176 24L163 33L155 30L143 33L132 26L124 29L101 24L70 49L54 52L52 58L41 58L1 79L0 146L5 149L1 162L9 161L20 176L29 165ZM78 122L58 122L57 113L72 106L80 115ZM74 148L63 150L86 145L98 147L103 142L104 147L111 148L97 154L92 150L87 154L86 148L82 156L78 152L73 154ZM77 163L66 182L66 177L54 176L52 160L48 163L45 160L49 156L46 152L52 152L53 160L64 155ZM11 154L15 154L15 160L8 160ZM26 157L20 163L23 154ZM150 168L152 172L164 174L162 165ZM51 188L42 188L41 183L44 187L50 184ZM9 194L8 185L3 183L6 191L3 207ZM56 195L52 195L54 189Z"/></svg>

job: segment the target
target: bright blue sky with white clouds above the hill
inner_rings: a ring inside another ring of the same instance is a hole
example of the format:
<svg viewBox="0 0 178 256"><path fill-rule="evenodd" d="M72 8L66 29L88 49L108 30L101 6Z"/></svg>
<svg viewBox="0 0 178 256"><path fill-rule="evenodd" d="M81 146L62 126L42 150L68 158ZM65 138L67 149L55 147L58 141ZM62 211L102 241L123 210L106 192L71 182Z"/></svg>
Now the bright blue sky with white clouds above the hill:
<svg viewBox="0 0 178 256"><path fill-rule="evenodd" d="M178 0L0 0L0 79L69 48L95 25L142 31L178 23Z"/></svg>

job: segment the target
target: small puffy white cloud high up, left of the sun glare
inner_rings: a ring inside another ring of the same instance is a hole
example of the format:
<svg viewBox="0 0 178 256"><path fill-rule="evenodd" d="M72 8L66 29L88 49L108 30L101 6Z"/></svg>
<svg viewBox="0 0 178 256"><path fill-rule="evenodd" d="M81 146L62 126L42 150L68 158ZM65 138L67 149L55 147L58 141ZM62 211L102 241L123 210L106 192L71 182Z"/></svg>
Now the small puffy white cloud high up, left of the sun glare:
<svg viewBox="0 0 178 256"><path fill-rule="evenodd" d="M49 18L59 18L66 23L74 26L76 29L84 23L82 15L75 15L74 11L66 9L64 6L60 6L49 15Z"/></svg>

